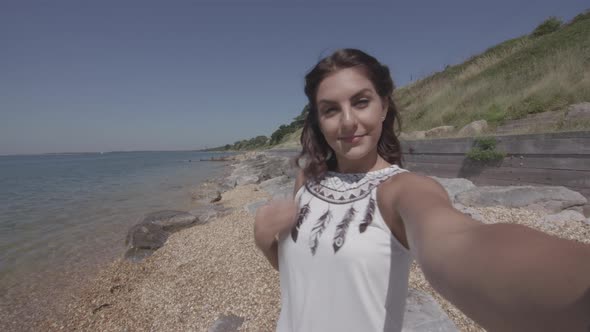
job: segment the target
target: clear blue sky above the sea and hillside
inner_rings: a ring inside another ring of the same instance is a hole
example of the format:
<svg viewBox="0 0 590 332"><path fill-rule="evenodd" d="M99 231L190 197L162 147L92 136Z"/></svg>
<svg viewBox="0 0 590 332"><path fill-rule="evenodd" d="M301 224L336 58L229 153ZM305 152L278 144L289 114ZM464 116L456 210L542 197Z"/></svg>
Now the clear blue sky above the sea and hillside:
<svg viewBox="0 0 590 332"><path fill-rule="evenodd" d="M0 154L198 149L269 136L337 48L398 86L532 31L574 0L0 2Z"/></svg>

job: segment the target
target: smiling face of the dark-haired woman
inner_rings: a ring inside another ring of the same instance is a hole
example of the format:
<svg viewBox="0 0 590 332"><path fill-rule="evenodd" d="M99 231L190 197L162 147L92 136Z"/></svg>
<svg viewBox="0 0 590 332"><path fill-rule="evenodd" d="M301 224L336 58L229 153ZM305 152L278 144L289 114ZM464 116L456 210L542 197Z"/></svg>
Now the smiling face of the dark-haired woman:
<svg viewBox="0 0 590 332"><path fill-rule="evenodd" d="M346 68L326 77L316 105L320 129L339 161L377 153L387 104L363 70Z"/></svg>

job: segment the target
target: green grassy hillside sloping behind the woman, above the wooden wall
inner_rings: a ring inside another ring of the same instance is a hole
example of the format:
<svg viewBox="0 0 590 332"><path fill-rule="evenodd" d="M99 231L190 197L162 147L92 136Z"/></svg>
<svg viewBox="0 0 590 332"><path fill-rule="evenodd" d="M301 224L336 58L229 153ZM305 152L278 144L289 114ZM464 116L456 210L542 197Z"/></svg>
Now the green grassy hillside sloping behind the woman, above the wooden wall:
<svg viewBox="0 0 590 332"><path fill-rule="evenodd" d="M487 133L493 133L530 114L565 113L568 105L590 102L590 11L565 24L548 18L529 35L397 89L394 99L406 133L439 126L460 129L476 120L486 120ZM297 148L305 112L266 140L258 136L215 149ZM551 123L534 130L590 130L590 121Z"/></svg>

